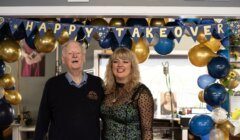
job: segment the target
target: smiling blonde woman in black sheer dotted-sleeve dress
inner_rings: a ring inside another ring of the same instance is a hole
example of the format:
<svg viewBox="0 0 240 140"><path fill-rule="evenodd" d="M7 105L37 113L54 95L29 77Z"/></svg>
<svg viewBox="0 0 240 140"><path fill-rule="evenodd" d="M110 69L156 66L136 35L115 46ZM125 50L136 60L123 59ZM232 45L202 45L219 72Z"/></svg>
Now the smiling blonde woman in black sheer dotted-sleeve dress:
<svg viewBox="0 0 240 140"><path fill-rule="evenodd" d="M139 82L138 62L127 48L117 48L105 74L106 97L101 106L103 140L152 140L153 98Z"/></svg>

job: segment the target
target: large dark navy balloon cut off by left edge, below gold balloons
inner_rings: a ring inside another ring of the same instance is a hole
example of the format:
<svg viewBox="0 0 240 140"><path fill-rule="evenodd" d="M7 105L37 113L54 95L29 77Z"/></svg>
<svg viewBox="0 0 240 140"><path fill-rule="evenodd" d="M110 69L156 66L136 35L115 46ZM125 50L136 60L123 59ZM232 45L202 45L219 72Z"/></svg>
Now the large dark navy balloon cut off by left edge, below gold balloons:
<svg viewBox="0 0 240 140"><path fill-rule="evenodd" d="M0 99L0 126L8 126L13 122L14 109L3 98Z"/></svg>

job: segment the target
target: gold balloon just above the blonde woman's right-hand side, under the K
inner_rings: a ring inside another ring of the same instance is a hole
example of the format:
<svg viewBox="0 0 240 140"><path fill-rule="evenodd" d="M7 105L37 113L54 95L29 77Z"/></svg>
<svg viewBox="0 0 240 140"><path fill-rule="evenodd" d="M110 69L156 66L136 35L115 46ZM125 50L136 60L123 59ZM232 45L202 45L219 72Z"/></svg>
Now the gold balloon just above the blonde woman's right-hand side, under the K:
<svg viewBox="0 0 240 140"><path fill-rule="evenodd" d="M147 60L149 56L149 47L144 43L143 38L139 38L137 43L133 42L131 50L136 54L139 63Z"/></svg>

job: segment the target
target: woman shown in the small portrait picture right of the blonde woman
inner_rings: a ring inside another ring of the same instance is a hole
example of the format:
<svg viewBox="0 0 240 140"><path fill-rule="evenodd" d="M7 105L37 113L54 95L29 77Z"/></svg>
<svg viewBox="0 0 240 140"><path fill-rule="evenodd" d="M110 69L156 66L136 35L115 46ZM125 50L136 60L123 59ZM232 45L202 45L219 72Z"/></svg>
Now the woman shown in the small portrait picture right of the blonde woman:
<svg viewBox="0 0 240 140"><path fill-rule="evenodd" d="M177 102L175 101L174 94L172 93L172 101L173 101L173 112L177 111ZM164 93L164 100L161 104L161 114L162 115L170 115L171 112L171 95L169 92Z"/></svg>

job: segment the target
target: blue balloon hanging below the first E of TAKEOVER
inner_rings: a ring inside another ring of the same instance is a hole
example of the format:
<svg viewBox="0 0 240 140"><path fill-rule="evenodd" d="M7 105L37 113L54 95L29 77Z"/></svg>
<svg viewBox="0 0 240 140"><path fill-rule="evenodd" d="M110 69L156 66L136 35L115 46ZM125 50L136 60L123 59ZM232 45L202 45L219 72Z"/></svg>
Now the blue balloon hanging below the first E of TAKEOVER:
<svg viewBox="0 0 240 140"><path fill-rule="evenodd" d="M173 51L174 46L175 43L173 40L162 38L159 39L159 42L154 46L154 50L161 55L167 55Z"/></svg>

